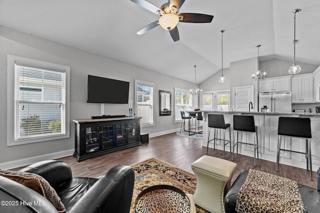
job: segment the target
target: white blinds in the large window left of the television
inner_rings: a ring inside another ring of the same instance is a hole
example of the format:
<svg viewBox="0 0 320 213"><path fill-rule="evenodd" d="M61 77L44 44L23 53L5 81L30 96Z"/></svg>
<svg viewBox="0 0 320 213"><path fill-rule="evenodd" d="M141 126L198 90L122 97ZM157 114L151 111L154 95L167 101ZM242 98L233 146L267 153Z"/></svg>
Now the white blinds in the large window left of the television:
<svg viewBox="0 0 320 213"><path fill-rule="evenodd" d="M15 63L15 139L65 133L65 72Z"/></svg>

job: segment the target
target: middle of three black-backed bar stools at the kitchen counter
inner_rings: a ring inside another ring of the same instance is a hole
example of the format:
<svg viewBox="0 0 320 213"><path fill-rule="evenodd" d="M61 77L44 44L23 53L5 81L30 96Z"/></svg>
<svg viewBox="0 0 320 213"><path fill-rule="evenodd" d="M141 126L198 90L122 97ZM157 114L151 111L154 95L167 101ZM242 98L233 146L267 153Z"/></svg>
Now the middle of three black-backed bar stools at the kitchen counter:
<svg viewBox="0 0 320 213"><path fill-rule="evenodd" d="M254 152L254 166L255 166L255 150L257 158L259 159L259 151L258 151L258 134L257 134L258 127L254 124L254 117L253 115L233 115L233 149L232 149L232 160L233 160L233 153L234 153L234 146L236 145L236 153L238 153L238 143L243 143L247 145L253 145L253 152ZM253 143L242 142L239 140L239 131L244 132L252 132L255 134ZM236 132L236 142L235 142L235 132Z"/></svg>

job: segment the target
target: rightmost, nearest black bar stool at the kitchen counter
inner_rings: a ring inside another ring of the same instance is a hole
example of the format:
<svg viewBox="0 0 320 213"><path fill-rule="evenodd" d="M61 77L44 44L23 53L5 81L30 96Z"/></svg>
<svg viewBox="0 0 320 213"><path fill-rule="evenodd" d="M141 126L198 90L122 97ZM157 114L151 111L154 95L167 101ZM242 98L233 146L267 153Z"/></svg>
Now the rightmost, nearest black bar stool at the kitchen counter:
<svg viewBox="0 0 320 213"><path fill-rule="evenodd" d="M283 137L293 137L305 139L305 152L282 149L281 138ZM276 171L279 170L279 158L280 150L291 151L300 154L305 154L306 156L306 169L308 170L310 163L310 176L312 180L312 161L311 161L311 123L309 117L279 117L278 122L278 148L276 153Z"/></svg>

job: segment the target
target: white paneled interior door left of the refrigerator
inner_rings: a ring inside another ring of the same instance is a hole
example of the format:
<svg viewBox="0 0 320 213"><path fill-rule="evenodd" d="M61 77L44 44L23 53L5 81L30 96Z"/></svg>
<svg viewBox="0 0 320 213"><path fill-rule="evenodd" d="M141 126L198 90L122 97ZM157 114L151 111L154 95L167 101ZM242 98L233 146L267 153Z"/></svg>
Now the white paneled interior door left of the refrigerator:
<svg viewBox="0 0 320 213"><path fill-rule="evenodd" d="M236 86L232 88L233 108L235 111L248 111L249 102L253 102L253 85ZM253 110L252 110L253 111Z"/></svg>

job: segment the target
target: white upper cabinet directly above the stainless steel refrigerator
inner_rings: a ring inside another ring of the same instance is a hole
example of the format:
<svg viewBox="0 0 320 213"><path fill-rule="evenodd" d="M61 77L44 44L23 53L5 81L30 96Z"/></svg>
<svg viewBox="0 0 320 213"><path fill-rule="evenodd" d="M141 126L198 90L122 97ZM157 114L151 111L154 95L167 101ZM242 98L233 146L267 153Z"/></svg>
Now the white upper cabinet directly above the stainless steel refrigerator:
<svg viewBox="0 0 320 213"><path fill-rule="evenodd" d="M259 92L290 91L290 77L270 77L259 81Z"/></svg>

